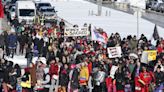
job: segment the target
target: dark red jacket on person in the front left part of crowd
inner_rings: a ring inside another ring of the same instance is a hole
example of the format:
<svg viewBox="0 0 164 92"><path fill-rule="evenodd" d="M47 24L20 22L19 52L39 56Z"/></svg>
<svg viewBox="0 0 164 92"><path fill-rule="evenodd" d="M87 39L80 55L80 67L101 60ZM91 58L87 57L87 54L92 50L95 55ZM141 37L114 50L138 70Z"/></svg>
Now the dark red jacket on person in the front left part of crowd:
<svg viewBox="0 0 164 92"><path fill-rule="evenodd" d="M49 74L50 74L51 77L54 74L55 75L59 75L58 70L59 70L59 66L58 65L56 65L54 63L50 64Z"/></svg>

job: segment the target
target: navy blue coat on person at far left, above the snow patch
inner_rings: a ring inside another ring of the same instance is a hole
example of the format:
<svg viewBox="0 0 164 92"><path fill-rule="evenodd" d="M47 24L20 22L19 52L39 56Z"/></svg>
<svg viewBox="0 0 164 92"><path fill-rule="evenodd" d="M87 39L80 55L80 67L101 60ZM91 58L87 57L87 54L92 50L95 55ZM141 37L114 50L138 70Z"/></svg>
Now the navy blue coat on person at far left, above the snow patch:
<svg viewBox="0 0 164 92"><path fill-rule="evenodd" d="M13 35L13 34L11 34L11 35L9 35L8 36L8 43L9 43L9 48L16 48L16 45L17 45L17 37L16 37L16 35Z"/></svg>

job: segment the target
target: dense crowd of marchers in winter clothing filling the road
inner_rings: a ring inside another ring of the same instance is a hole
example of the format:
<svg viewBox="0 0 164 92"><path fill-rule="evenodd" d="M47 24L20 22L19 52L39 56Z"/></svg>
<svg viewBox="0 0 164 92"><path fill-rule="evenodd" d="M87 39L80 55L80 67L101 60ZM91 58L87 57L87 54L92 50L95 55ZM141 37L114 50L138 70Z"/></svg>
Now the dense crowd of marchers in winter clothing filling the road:
<svg viewBox="0 0 164 92"><path fill-rule="evenodd" d="M16 19L10 25L11 30L0 34L0 92L164 91L163 38L154 46L146 34L137 39L113 33L104 44L92 41L90 35L64 37L64 20L51 27ZM116 46L121 46L122 56L109 58L107 48ZM156 60L142 63L145 50L157 50ZM15 55L25 56L25 68L5 59Z"/></svg>

